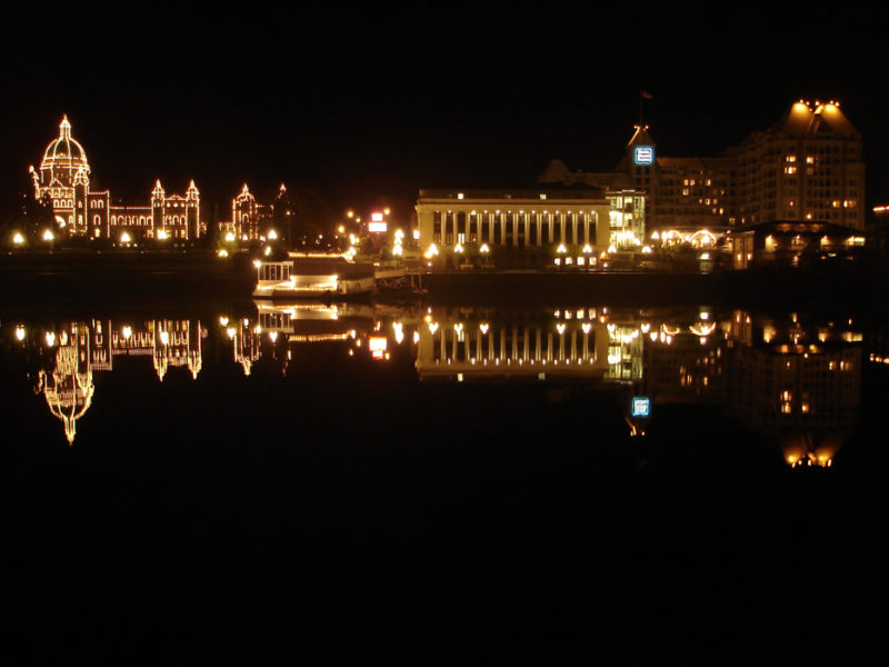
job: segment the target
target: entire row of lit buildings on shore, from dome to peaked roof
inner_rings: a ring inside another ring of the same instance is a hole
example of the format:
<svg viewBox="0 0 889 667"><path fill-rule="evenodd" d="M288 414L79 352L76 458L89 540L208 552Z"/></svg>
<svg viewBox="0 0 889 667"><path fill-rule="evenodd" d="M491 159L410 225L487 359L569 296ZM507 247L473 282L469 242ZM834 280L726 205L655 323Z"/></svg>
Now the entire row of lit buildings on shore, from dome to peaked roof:
<svg viewBox="0 0 889 667"><path fill-rule="evenodd" d="M639 125L613 172L570 172L553 160L535 189L419 190L419 245L452 253L551 246L548 250L558 247L569 256L593 256L676 243L712 248L722 240L736 256L735 268L750 266L755 257L775 256L757 255L748 247L753 242L756 249L767 250L762 240L737 239L735 247L726 233L766 223L792 222L795 230L806 232L799 238L821 233L829 225L832 236L842 239L839 248L852 237L853 245L861 245L861 135L835 101L795 102L770 128L751 132L718 157L661 156L649 128ZM62 238L128 245L144 239L196 241L207 235L193 180L184 195L168 195L158 179L147 205L113 203L109 190L91 190L91 167L67 117L30 175L36 198L51 206L52 231ZM290 240L292 208L283 185L274 201L259 202L244 183L231 200L231 219L214 225L227 240L250 242L281 235ZM845 233L843 228L857 233Z"/></svg>

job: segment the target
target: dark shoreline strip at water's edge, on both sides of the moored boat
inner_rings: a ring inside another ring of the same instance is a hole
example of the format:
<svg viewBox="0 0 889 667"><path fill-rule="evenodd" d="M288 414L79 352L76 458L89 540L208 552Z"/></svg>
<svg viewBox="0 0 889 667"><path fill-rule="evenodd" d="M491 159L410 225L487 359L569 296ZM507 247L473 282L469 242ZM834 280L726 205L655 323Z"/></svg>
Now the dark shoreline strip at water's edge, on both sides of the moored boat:
<svg viewBox="0 0 889 667"><path fill-rule="evenodd" d="M254 271L249 258L220 259L210 251L22 253L0 256L6 306L97 305L194 298L249 301ZM856 310L887 305L889 273L878 267L775 269L716 273L567 271L440 271L424 278L437 305L689 305L818 308L848 303ZM386 297L382 297L384 300Z"/></svg>

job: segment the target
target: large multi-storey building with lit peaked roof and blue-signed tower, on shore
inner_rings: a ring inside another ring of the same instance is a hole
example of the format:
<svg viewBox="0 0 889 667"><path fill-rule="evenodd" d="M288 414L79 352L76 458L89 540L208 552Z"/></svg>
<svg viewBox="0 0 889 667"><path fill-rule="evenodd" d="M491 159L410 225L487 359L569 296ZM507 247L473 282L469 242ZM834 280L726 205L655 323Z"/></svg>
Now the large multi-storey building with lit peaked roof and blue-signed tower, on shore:
<svg viewBox="0 0 889 667"><path fill-rule="evenodd" d="M796 102L769 129L719 157L656 155L647 127L636 128L627 151L615 175L551 163L541 181L628 183L648 195L646 229L658 237L776 220L865 229L861 135L838 102Z"/></svg>

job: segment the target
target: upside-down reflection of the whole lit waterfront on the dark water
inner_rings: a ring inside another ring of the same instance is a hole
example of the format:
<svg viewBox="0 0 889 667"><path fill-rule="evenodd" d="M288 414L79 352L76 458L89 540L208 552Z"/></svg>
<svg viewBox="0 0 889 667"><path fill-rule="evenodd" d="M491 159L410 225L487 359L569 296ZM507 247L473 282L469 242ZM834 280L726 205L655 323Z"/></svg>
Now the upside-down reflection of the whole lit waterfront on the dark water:
<svg viewBox="0 0 889 667"><path fill-rule="evenodd" d="M846 317L709 307L256 301L250 312L219 315L209 329L199 319L4 322L2 328L8 345L39 367L36 390L61 420L69 444L94 400L96 374L113 371L117 358L150 357L161 381L180 368L197 379L209 342L220 364L230 359L253 377L260 368L298 376L307 364L336 375L363 359L413 365L413 380L421 384L597 386L619 396L633 435L643 435L647 425L645 416L632 414L633 397L647 397L653 416L667 404L710 404L772 438L788 464L823 467L832 465L855 428L865 344L863 332ZM876 352L869 358L882 361Z"/></svg>

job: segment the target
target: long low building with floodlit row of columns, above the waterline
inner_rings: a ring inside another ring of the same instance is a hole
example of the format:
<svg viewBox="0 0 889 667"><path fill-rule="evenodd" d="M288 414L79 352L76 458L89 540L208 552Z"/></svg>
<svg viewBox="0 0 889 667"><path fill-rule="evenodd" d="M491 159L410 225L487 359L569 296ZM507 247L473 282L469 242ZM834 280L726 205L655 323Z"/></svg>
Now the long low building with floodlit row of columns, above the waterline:
<svg viewBox="0 0 889 667"><path fill-rule="evenodd" d="M448 251L481 245L552 253L560 245L601 251L641 240L646 226L645 199L633 190L420 190L416 208L421 247L434 243Z"/></svg>

